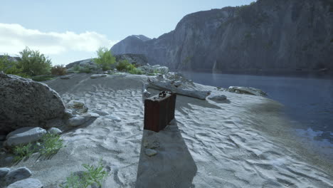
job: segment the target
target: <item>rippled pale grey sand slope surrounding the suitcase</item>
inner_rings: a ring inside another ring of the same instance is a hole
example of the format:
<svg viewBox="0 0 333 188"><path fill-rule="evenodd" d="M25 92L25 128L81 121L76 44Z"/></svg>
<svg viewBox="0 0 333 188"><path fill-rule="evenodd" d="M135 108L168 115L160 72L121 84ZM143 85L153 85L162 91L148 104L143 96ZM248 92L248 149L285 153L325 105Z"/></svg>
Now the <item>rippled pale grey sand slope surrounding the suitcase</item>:
<svg viewBox="0 0 333 188"><path fill-rule="evenodd" d="M176 121L159 133L143 131L145 80L145 75L78 74L48 82L65 103L81 100L122 121L101 116L63 134L67 147L51 160L35 155L16 166L31 169L45 187L56 187L70 172L83 170L81 164L96 164L101 157L111 172L103 187L333 186L332 162L316 160L292 142L279 103L198 85L228 100L177 95ZM144 154L145 142L159 142L156 156Z"/></svg>

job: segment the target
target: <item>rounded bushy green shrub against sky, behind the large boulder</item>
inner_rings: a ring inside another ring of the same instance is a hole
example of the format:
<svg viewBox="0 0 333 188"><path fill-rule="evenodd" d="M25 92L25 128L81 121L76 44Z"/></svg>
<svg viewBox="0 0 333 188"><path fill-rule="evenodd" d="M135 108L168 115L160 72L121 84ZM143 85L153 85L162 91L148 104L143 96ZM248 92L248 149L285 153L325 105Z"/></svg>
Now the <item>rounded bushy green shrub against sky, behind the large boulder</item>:
<svg viewBox="0 0 333 188"><path fill-rule="evenodd" d="M18 67L26 75L46 75L51 69L51 60L46 58L39 51L32 51L26 47L20 52L21 61L18 61Z"/></svg>

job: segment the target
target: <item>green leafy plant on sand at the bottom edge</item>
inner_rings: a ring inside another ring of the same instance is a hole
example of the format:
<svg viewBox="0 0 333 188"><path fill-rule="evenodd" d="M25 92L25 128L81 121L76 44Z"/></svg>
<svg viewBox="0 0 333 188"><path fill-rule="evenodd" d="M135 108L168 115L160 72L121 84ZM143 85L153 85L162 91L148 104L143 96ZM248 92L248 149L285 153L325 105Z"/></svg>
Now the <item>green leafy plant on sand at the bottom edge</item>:
<svg viewBox="0 0 333 188"><path fill-rule="evenodd" d="M99 187L102 186L101 181L108 176L108 173L105 171L105 167L102 165L102 160L98 162L97 166L83 164L83 167L86 169L82 175L78 176L75 174L70 174L66 178L65 184L60 184L60 187L63 188L86 188L92 184L98 184Z"/></svg>

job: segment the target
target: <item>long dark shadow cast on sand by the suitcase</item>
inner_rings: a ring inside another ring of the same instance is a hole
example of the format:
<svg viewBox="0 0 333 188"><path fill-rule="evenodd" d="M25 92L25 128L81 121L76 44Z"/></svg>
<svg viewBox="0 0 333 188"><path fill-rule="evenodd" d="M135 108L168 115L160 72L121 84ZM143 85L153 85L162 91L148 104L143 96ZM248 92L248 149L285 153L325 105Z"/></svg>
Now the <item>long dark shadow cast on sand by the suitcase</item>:
<svg viewBox="0 0 333 188"><path fill-rule="evenodd" d="M154 148L157 155L149 157L147 148ZM197 167L184 142L176 120L160 132L144 130L136 188L194 187Z"/></svg>

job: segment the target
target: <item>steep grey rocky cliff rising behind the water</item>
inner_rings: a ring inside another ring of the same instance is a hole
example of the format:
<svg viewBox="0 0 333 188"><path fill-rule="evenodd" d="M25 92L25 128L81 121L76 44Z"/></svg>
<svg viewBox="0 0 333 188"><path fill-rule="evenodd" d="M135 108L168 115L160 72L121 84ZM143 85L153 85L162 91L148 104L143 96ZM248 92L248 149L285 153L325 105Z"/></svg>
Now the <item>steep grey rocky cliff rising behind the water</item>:
<svg viewBox="0 0 333 188"><path fill-rule="evenodd" d="M129 36L111 51L142 53L151 64L181 70L332 70L333 3L259 0L200 11L159 38Z"/></svg>

